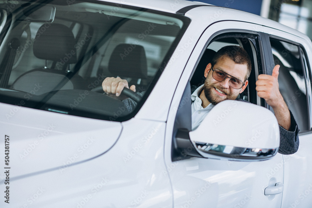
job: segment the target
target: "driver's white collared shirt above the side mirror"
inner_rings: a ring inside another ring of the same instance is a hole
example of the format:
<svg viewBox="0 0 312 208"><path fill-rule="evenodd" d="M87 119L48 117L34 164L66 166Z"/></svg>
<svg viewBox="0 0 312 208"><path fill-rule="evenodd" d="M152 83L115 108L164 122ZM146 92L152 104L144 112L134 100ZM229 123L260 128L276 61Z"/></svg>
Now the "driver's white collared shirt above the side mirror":
<svg viewBox="0 0 312 208"><path fill-rule="evenodd" d="M209 111L215 106L209 104L206 108L202 107L202 100L198 97L198 94L202 90L204 85L199 86L191 95L192 99L192 131L195 130Z"/></svg>

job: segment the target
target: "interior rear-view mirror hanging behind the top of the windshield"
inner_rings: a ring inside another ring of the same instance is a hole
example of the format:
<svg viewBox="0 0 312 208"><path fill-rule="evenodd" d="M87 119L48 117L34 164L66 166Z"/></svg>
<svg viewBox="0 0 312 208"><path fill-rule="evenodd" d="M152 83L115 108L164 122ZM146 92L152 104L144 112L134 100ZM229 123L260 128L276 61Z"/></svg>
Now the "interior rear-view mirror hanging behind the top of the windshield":
<svg viewBox="0 0 312 208"><path fill-rule="evenodd" d="M21 5L22 12L16 15L16 20L20 22L53 22L55 17L55 7L38 6L30 3Z"/></svg>

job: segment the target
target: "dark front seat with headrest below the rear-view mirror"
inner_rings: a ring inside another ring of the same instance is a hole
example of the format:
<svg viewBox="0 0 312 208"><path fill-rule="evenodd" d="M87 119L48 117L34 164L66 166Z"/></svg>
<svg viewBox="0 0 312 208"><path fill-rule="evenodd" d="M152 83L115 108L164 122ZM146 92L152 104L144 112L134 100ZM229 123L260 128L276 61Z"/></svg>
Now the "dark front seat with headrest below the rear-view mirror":
<svg viewBox="0 0 312 208"><path fill-rule="evenodd" d="M42 25L33 42L33 53L39 59L52 60L54 63L60 62L59 65L64 69L66 66L69 67L69 64L77 62L75 44L76 40L72 31L65 25L54 23L47 28ZM33 69L20 75L12 83L11 89L33 92L34 87L39 85L36 95L58 90L58 88L83 89L82 77L79 75L71 77L68 76L69 73L72 72L53 69L53 66L48 69L45 64L42 68Z"/></svg>

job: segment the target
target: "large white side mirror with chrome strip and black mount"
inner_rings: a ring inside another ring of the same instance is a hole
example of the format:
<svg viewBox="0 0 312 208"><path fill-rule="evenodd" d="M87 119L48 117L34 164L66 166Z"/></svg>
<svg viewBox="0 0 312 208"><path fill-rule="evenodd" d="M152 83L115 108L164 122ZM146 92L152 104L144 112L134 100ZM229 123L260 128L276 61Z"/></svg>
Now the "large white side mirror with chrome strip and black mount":
<svg viewBox="0 0 312 208"><path fill-rule="evenodd" d="M274 114L261 106L236 100L217 104L191 132L178 130L174 144L188 156L234 161L261 161L273 157L280 145Z"/></svg>

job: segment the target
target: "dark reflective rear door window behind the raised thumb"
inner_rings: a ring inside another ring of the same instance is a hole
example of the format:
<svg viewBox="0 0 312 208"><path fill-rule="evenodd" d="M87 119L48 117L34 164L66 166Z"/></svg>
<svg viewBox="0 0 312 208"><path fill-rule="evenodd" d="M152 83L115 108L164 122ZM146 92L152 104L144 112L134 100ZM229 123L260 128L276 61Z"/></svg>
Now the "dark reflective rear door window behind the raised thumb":
<svg viewBox="0 0 312 208"><path fill-rule="evenodd" d="M306 75L300 60L300 47L271 38L275 65L280 65L278 83L288 108L294 115L300 131L309 130L306 93ZM303 53L301 53L301 56Z"/></svg>

